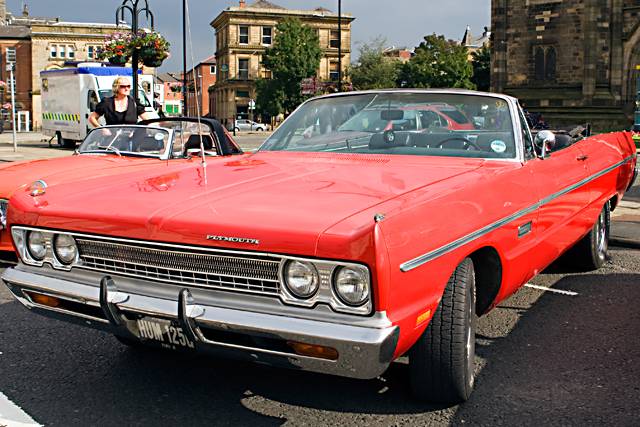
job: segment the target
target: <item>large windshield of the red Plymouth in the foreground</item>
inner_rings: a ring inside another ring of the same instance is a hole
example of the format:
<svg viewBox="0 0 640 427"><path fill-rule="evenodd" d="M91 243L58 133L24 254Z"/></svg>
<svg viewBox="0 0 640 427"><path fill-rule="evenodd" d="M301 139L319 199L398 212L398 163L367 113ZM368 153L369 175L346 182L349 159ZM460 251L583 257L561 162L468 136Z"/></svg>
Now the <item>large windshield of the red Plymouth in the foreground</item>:
<svg viewBox="0 0 640 427"><path fill-rule="evenodd" d="M314 99L294 112L260 150L516 157L505 100L445 92Z"/></svg>

